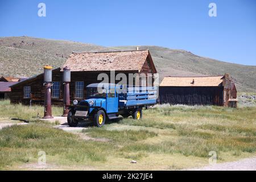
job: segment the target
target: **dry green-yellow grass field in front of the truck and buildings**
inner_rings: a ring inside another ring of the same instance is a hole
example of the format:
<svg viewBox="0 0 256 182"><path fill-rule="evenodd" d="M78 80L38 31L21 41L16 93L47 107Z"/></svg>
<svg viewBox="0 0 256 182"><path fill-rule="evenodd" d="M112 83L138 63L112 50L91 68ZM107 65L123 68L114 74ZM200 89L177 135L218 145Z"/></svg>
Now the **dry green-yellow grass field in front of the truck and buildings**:
<svg viewBox="0 0 256 182"><path fill-rule="evenodd" d="M33 120L33 114L17 117ZM81 135L104 140L83 140ZM32 169L28 166L44 150L54 169L182 169L207 165L209 151L217 152L217 162L254 156L255 141L256 107L165 105L145 110L141 121L119 119L79 135L36 121L8 127L0 131L0 166Z"/></svg>

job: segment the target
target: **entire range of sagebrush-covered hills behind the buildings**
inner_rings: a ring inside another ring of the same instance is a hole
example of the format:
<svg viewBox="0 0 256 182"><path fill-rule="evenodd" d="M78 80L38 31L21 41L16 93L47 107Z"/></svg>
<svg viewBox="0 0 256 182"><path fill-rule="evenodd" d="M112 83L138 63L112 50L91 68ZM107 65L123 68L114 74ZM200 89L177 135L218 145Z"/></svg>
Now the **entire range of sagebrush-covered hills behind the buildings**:
<svg viewBox="0 0 256 182"><path fill-rule="evenodd" d="M135 46L102 47L93 44L30 37L0 38L0 75L33 76L43 72L43 65L60 67L72 51L134 50ZM226 63L191 52L156 46L150 49L160 79L164 76L223 75L228 72L236 81L238 92L255 92L256 67Z"/></svg>

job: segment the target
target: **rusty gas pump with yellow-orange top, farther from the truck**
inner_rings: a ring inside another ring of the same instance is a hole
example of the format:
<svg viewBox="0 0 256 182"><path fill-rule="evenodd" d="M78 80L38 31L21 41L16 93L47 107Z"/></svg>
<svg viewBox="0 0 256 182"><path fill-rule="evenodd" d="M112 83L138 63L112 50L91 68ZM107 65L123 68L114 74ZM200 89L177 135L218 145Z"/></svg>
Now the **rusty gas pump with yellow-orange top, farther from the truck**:
<svg viewBox="0 0 256 182"><path fill-rule="evenodd" d="M44 117L43 119L52 119L52 101L51 101L51 86L52 86L52 67L46 65L44 67Z"/></svg>

